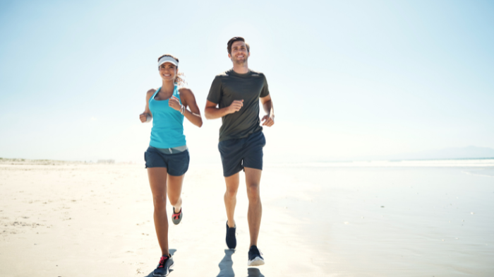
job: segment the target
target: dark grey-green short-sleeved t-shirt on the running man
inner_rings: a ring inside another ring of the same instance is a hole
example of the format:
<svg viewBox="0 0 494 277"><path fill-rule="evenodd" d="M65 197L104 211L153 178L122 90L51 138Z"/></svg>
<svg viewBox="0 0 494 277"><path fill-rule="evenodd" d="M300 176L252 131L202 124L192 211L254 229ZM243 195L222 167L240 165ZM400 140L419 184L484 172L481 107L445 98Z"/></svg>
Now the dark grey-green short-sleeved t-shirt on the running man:
<svg viewBox="0 0 494 277"><path fill-rule="evenodd" d="M220 109L228 107L234 100L243 100L239 112L222 117L219 141L242 139L263 131L259 119L259 98L269 94L263 73L249 70L248 73L240 74L230 69L217 75L212 81L207 100L219 104Z"/></svg>

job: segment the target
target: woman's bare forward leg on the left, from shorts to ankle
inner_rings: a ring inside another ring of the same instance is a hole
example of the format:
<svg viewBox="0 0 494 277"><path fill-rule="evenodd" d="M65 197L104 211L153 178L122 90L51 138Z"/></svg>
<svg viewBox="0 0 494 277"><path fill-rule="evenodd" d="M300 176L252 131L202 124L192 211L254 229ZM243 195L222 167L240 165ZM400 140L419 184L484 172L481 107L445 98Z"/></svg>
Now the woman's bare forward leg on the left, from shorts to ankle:
<svg viewBox="0 0 494 277"><path fill-rule="evenodd" d="M168 256L167 167L148 167L147 177L155 205L155 229L162 256Z"/></svg>

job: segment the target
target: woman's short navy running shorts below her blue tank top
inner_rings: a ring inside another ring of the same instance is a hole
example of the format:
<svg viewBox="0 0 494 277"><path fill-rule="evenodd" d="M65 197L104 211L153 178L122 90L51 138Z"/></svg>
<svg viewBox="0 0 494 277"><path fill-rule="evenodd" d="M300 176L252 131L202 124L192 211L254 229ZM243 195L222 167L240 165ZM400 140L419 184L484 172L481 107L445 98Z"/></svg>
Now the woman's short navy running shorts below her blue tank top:
<svg viewBox="0 0 494 277"><path fill-rule="evenodd" d="M164 154L158 149L150 147L144 153L144 160L146 161L146 168L167 167L169 175L181 176L187 172L191 157L188 155L188 150L175 154Z"/></svg>

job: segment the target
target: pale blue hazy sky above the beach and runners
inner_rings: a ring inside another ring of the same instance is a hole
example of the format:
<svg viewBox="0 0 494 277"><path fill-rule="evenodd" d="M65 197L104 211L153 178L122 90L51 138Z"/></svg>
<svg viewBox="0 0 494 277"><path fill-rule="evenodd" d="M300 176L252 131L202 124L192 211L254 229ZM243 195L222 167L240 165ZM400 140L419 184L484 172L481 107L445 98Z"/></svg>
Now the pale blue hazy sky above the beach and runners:
<svg viewBox="0 0 494 277"><path fill-rule="evenodd" d="M269 84L269 162L494 148L493 1L4 0L0 157L143 163L157 58L203 113L234 36ZM219 163L203 121L184 123L191 161Z"/></svg>

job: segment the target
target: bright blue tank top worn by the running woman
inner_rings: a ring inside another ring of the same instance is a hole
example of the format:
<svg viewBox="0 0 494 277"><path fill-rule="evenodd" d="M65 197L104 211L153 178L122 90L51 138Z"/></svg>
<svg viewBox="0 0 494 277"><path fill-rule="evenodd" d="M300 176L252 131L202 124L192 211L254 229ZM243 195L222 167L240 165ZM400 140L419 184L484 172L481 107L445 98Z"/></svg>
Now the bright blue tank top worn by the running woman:
<svg viewBox="0 0 494 277"><path fill-rule="evenodd" d="M155 100L158 88L149 100L149 110L152 114L152 129L150 146L155 148L174 148L187 144L183 134L183 115L168 105L167 100ZM179 88L175 85L173 95L179 98Z"/></svg>

